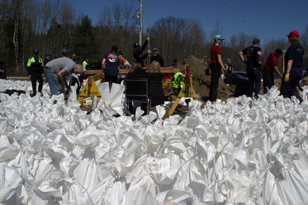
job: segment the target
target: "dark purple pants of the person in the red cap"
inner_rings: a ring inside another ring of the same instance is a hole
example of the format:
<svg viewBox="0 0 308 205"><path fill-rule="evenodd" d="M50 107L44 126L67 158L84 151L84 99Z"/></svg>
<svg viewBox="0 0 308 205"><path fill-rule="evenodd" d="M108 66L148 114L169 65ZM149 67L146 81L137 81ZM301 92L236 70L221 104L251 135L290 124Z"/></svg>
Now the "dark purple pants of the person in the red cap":
<svg viewBox="0 0 308 205"><path fill-rule="evenodd" d="M290 70L289 75L289 82L285 82L285 75L286 72L283 73L282 81L281 81L281 88L280 88L280 95L284 98L295 96L300 103L302 103L303 99L299 96L298 92L296 91L296 86L298 82L301 80L303 74L302 67L292 67Z"/></svg>

